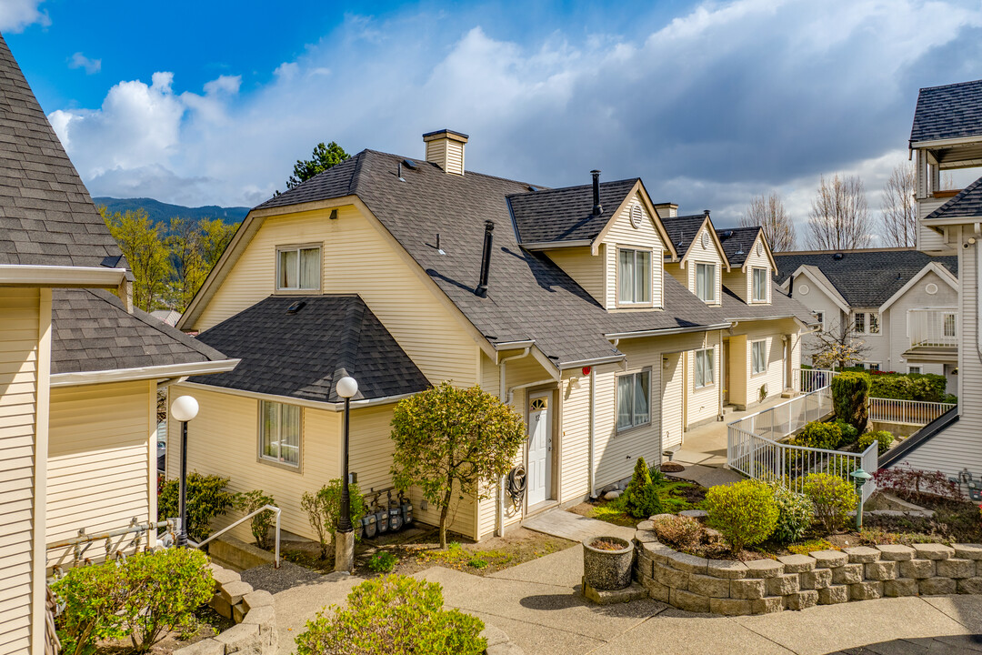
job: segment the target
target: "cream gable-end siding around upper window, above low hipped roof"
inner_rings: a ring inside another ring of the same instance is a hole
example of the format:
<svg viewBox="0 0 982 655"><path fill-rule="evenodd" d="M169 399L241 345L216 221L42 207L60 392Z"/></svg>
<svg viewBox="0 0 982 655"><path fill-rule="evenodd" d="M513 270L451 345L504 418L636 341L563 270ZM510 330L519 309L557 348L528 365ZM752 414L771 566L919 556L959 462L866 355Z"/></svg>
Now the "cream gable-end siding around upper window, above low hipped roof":
<svg viewBox="0 0 982 655"><path fill-rule="evenodd" d="M475 342L354 205L265 219L195 324L205 330L275 293L276 247L321 244L325 294L356 293L433 382L477 383ZM414 264L412 264L414 265ZM317 292L307 292L316 294Z"/></svg>

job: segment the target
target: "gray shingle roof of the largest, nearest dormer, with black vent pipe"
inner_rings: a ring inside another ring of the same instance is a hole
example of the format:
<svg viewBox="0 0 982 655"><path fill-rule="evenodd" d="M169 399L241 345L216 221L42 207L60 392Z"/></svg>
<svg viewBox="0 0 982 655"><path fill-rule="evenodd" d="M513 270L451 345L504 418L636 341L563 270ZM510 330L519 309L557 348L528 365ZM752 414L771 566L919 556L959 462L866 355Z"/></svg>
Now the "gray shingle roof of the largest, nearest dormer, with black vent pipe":
<svg viewBox="0 0 982 655"><path fill-rule="evenodd" d="M603 211L593 215L593 185L529 192L522 189L508 200L515 216L518 241L542 244L593 241L614 215L637 178L600 183Z"/></svg>

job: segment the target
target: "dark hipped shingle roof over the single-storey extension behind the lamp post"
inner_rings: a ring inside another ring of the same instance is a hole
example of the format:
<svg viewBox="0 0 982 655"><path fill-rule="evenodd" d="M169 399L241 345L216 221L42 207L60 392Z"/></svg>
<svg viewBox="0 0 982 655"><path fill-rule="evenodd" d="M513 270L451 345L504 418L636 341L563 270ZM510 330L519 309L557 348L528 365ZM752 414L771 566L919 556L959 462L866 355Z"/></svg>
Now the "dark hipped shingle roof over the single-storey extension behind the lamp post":
<svg viewBox="0 0 982 655"><path fill-rule="evenodd" d="M297 313L291 305L303 302ZM355 399L422 391L425 376L355 295L269 297L198 335L241 358L228 373L191 381L308 401L342 401L344 373L358 381Z"/></svg>

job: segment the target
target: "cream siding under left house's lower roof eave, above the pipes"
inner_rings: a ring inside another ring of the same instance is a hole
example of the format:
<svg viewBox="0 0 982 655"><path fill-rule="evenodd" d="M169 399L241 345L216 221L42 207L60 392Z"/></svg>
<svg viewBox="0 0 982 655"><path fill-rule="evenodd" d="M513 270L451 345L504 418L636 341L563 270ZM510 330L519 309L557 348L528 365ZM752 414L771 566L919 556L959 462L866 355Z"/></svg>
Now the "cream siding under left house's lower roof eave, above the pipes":
<svg viewBox="0 0 982 655"><path fill-rule="evenodd" d="M156 520L156 384L55 388L48 443L47 542ZM129 539L127 540L129 541ZM146 544L145 537L143 544ZM132 552L132 551L130 551ZM48 565L73 549L48 552ZM85 557L100 560L104 543Z"/></svg>

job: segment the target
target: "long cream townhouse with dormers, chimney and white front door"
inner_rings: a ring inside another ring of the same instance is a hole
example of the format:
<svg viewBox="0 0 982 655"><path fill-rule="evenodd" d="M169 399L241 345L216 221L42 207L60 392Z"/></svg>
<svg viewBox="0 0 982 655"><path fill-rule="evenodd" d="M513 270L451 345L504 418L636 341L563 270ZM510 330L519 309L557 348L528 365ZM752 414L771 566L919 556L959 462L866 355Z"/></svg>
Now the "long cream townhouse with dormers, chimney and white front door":
<svg viewBox="0 0 982 655"><path fill-rule="evenodd" d="M455 508L454 529L479 539L595 495L639 457L660 462L687 427L723 414L724 375L745 379L744 394L762 384L750 369L757 342L769 393L784 390L782 371L813 319L771 288L773 259L759 231L741 258L711 236L729 263L714 300L700 300L694 277L680 281L673 268L685 255L666 229L675 209L653 203L641 180L601 183L594 172L589 184L544 189L464 171L467 136L423 139L425 160L364 150L249 212L179 323L243 362L171 387L200 403L192 468L271 493L287 529L312 536L299 498L339 476L338 370L355 379L404 371L355 398L352 470L366 492L390 485L388 423L400 398L444 380L479 384L528 425L516 461L528 473L524 495L513 502L497 489ZM750 297L761 267L764 296ZM311 329L304 321L356 332L340 310L314 320L317 299L370 313L372 339L398 348L374 353L366 341L345 358L338 344L305 346L296 336ZM306 304L290 315L291 300ZM252 325L244 317L274 305L278 317L237 343ZM723 367L721 357L742 368ZM169 475L178 457L170 454ZM417 517L435 521L415 501Z"/></svg>

